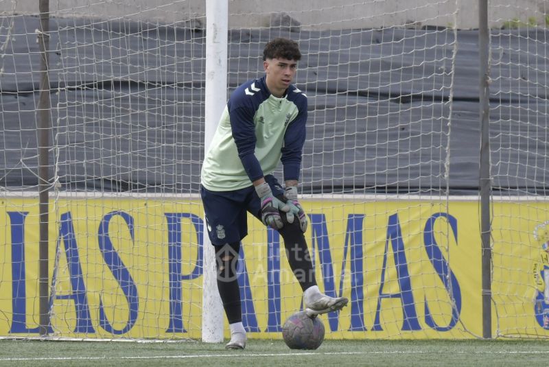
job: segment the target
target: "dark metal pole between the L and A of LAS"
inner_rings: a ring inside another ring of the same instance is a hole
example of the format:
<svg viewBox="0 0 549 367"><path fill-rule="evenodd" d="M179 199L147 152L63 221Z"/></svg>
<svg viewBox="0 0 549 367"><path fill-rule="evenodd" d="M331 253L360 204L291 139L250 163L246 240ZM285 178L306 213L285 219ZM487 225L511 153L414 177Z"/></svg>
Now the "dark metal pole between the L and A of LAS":
<svg viewBox="0 0 549 367"><path fill-rule="evenodd" d="M40 335L49 330L49 271L48 271L48 223L49 223L49 152L51 130L51 103L49 96L49 0L40 0L40 94L36 116L38 135L38 200L40 211L40 241L38 265L38 292L40 295Z"/></svg>

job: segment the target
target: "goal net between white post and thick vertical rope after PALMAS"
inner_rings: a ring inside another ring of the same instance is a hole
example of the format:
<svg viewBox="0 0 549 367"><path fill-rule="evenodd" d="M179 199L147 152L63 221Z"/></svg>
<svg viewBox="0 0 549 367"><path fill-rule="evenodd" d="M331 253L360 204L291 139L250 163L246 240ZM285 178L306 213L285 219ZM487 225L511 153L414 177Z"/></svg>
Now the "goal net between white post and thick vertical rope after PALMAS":
<svg viewBox="0 0 549 367"><path fill-rule="evenodd" d="M229 25L240 25L229 35L229 93L262 75L267 40L299 42L307 240L320 289L349 298L322 317L327 338L470 335L447 201L456 1L285 5L229 6ZM301 289L277 233L254 224L243 243L244 325L272 338L303 307Z"/></svg>

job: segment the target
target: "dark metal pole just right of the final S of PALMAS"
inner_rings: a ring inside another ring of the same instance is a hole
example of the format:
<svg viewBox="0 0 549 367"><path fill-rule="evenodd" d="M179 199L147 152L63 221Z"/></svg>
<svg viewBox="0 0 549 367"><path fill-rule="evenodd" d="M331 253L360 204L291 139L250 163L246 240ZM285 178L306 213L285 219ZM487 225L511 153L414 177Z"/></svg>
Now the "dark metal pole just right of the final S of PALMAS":
<svg viewBox="0 0 549 367"><path fill-rule="evenodd" d="M489 27L488 0L478 1L479 109L480 109L480 233L482 239L482 337L492 338L491 224L489 141Z"/></svg>

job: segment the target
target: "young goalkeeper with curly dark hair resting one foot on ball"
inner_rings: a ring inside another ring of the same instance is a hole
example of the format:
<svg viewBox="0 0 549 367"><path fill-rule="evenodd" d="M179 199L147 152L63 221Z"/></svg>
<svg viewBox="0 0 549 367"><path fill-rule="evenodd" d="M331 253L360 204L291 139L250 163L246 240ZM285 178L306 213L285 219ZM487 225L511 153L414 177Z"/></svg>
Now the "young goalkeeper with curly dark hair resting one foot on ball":
<svg viewBox="0 0 549 367"><path fill-rule="evenodd" d="M265 75L232 93L202 165L200 196L215 246L218 289L231 327L229 349L246 346L236 274L240 241L248 234L246 211L282 236L310 313L338 310L348 302L320 293L303 235L307 216L297 198L297 184L307 97L292 84L300 59L293 40L275 38L267 43ZM284 189L272 176L279 161Z"/></svg>

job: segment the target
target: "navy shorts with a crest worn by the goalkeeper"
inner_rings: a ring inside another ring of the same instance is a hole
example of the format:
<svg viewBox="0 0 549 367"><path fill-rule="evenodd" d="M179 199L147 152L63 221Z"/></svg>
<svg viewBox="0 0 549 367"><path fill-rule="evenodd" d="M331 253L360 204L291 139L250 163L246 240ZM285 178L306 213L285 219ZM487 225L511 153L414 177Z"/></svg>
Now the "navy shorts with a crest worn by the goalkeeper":
<svg viewBox="0 0 549 367"><path fill-rule="evenodd" d="M274 196L284 189L272 175L265 176ZM248 217L252 213L261 220L261 202L253 185L233 191L210 191L200 186L200 196L206 213L206 228L211 244L222 246L240 242L248 235Z"/></svg>

